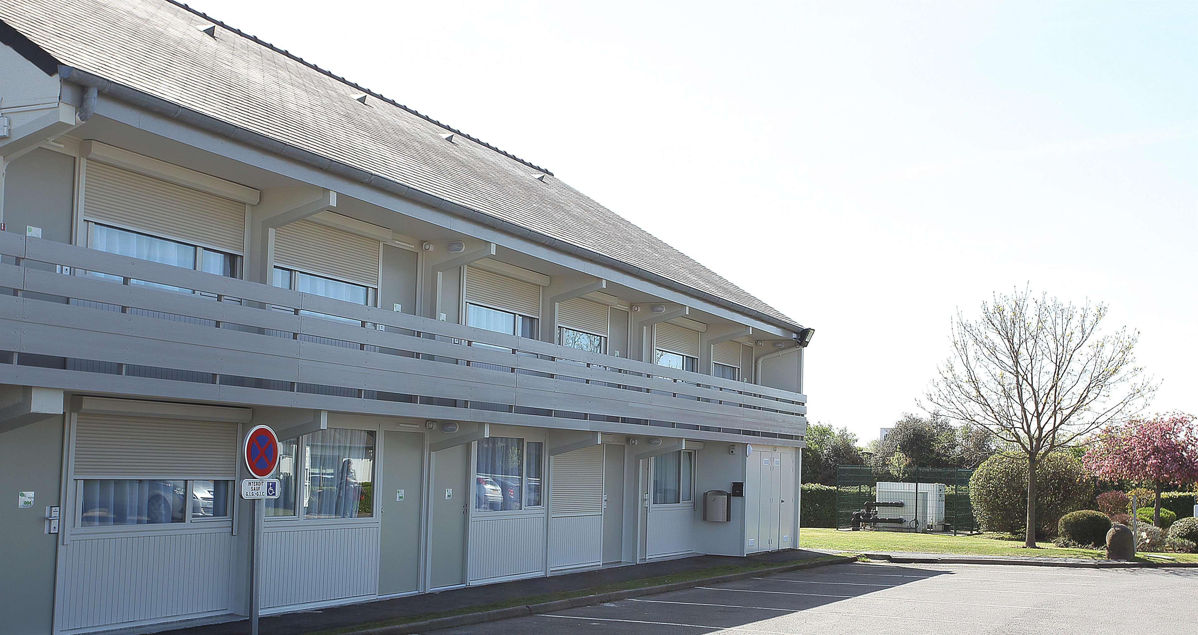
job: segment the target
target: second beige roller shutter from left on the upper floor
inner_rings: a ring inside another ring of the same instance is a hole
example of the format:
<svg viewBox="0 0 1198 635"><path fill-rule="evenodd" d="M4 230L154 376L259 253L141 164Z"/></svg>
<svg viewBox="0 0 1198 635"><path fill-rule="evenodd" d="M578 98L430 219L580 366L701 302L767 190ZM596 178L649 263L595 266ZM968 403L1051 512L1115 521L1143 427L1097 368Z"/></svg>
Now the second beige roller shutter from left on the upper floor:
<svg viewBox="0 0 1198 635"><path fill-rule="evenodd" d="M379 286L379 241L311 220L274 230L274 264Z"/></svg>

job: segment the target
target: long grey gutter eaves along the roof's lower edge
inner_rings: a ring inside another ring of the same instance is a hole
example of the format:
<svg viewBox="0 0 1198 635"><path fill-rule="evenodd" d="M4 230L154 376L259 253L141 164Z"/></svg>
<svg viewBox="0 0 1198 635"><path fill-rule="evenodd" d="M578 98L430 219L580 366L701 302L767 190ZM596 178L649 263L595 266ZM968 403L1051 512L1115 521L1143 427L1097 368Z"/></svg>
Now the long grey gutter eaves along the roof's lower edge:
<svg viewBox="0 0 1198 635"><path fill-rule="evenodd" d="M84 86L96 86L96 89L102 93L110 95L111 97L115 97L122 102L141 107L155 113L159 113L162 115L179 120L190 126L195 126L196 128L222 134L224 137L229 137L230 139L235 139L237 141L242 141L244 144L266 150L268 152L273 152L282 157L295 159L301 163L305 163L308 165L319 168L321 170L326 170L332 174L337 174L339 176L358 181L363 185L377 187L385 192L389 192L392 194L397 194L410 200L423 202L434 208L442 210L471 220L476 220L484 225L498 229L504 234L510 234L513 236L527 238L538 242L540 244L544 244L546 247L558 249L561 252L579 255L583 259L598 262L600 265L610 266L612 268L623 271L643 280L648 280L654 284L660 284L661 286L665 286L667 289L673 289L676 291L680 291L683 294L698 297L713 304L739 313L746 318L761 320L762 322L779 326L781 328L792 329L795 332L803 329L803 326L795 322L780 320L764 312L745 307L743 304L716 296L712 292L703 291L701 289L695 289L694 286L667 278L660 273L655 273L637 267L636 265L631 265L629 262L618 260L606 254L600 254L592 249L580 247L577 244L563 241L561 238L550 236L547 234L534 231L530 228L518 225L509 220L504 220L502 218L480 212L478 210L473 210L471 207L466 207L465 205L459 205L450 200L446 200L441 196L436 196L434 194L429 194L428 192L416 189L411 186L400 183L399 181L380 176L377 174L363 170L361 168L355 168L353 165L346 163L333 161L323 155L317 155L316 152L311 152L308 150L303 150L301 147L296 147L290 144L285 144L283 141L279 141L278 139L267 137L265 134L253 132L242 128L240 126L234 126L232 123L219 120L211 115L205 115L204 113L192 110L174 102L163 99L162 97L157 97L147 92L144 92L141 90L134 89L132 86L127 86L125 84L120 84L110 79L105 79L103 77L89 73L87 71L81 71L79 68L65 65L59 66L58 69L59 74L62 77L65 81L73 81L75 84L80 84Z"/></svg>

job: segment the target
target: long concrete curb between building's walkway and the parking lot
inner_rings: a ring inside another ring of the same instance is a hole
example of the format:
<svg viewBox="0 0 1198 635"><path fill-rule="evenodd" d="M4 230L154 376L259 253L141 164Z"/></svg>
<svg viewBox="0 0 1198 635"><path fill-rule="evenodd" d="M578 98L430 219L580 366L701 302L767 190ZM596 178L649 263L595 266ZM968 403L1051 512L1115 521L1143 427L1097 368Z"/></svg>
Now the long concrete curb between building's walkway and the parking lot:
<svg viewBox="0 0 1198 635"><path fill-rule="evenodd" d="M407 624L395 624L393 627L379 627L365 630L355 630L351 633L346 633L345 635L412 635L413 633L420 633L426 630L437 630L452 627L465 627L467 624L480 624L483 622L497 622L500 619L509 619L512 617L522 617L526 615L550 613L553 611L564 611L567 609L575 609L579 606L592 606L595 604L624 600L628 598L636 598L640 595L654 595L658 593L682 591L684 588L694 588L703 585L719 585L721 582L746 580L749 577L757 577L761 575L773 575L776 573L795 572L799 569L813 569L817 567L827 567L829 564L843 564L846 562L855 562L855 561L857 556L854 555L854 556L840 556L836 560L825 560L818 562L795 562L793 564L782 564L780 567L769 567L767 569L754 569L751 572L714 575L710 577L702 577L698 580L688 580L685 582L671 582L668 585L657 585L652 587L628 588L624 591L613 591L611 593L580 595L577 598L568 598L564 600L543 601L539 604L528 604L524 606L509 606L507 609L496 609L494 611L479 611L474 613L462 613L449 617L438 617L436 619L428 619L424 622L410 622Z"/></svg>

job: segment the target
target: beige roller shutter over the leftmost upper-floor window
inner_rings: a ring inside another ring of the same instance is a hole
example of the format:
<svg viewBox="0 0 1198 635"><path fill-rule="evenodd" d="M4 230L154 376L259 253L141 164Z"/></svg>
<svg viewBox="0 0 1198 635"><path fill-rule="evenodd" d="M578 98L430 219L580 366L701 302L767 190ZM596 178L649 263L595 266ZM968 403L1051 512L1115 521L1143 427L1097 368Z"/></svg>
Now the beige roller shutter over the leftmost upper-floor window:
<svg viewBox="0 0 1198 635"><path fill-rule="evenodd" d="M87 162L84 218L241 254L246 204Z"/></svg>

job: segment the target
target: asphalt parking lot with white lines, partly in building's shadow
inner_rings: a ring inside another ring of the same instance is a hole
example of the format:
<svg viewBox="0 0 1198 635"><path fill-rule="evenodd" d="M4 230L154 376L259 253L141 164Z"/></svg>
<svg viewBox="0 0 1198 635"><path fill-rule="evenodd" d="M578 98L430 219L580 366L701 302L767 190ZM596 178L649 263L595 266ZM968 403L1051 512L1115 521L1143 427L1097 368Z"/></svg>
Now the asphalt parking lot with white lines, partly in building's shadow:
<svg viewBox="0 0 1198 635"><path fill-rule="evenodd" d="M852 563L438 635L1193 633L1198 569Z"/></svg>

